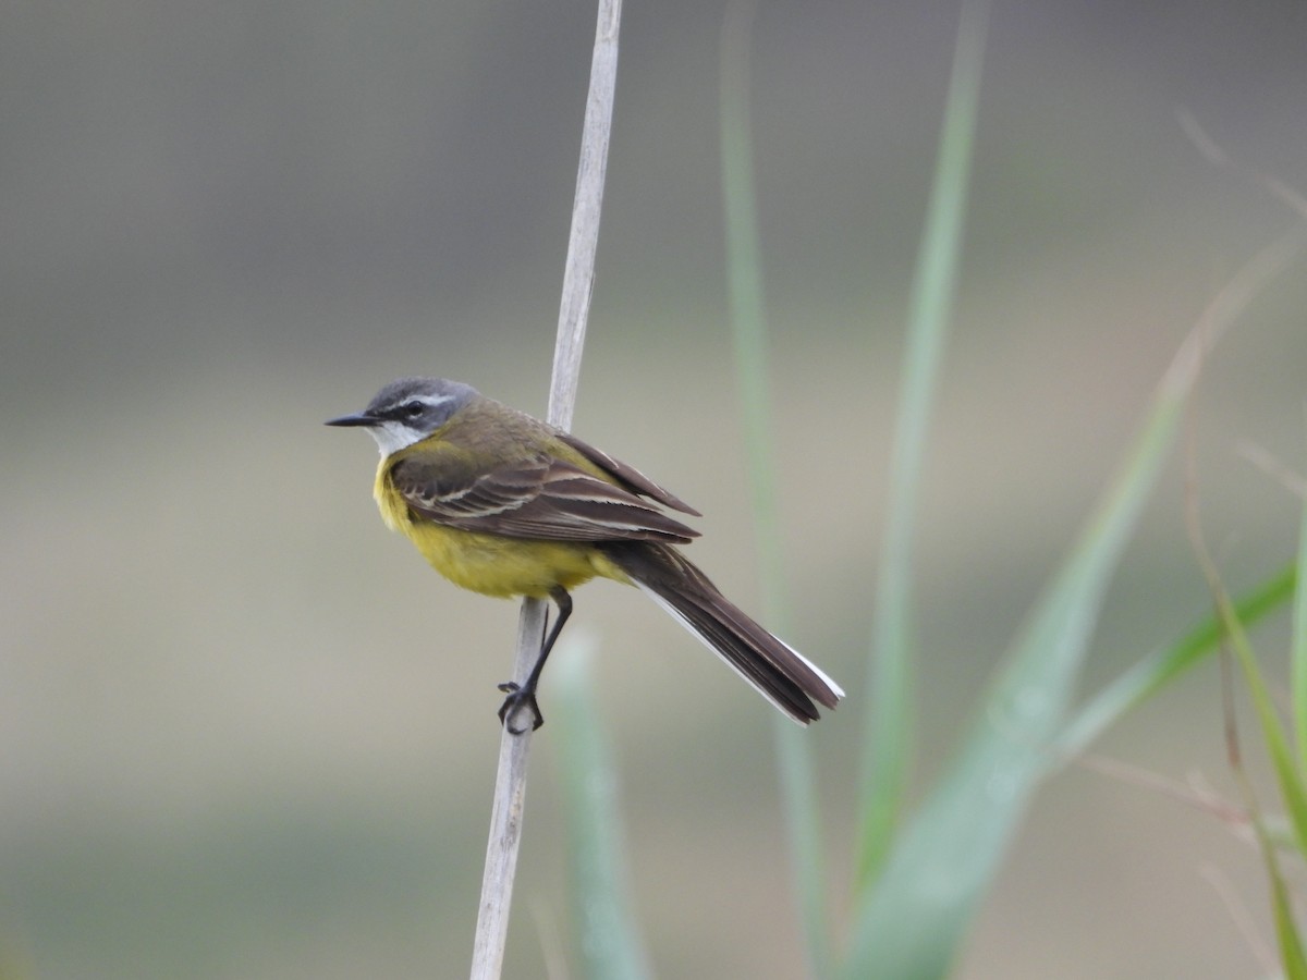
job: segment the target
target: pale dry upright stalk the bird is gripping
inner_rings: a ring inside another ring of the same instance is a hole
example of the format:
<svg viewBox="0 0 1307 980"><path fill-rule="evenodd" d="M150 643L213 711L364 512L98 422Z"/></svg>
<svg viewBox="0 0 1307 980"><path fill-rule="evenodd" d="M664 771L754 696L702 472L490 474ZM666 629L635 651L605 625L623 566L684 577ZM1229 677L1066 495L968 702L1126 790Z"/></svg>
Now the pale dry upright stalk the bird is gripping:
<svg viewBox="0 0 1307 980"><path fill-rule="evenodd" d="M553 382L549 389L549 421L561 429L571 426L576 383L580 376L580 355L586 342L586 320L589 316L589 298L595 285L595 252L604 200L604 175L608 170L608 141L613 128L613 94L617 89L617 31L621 16L621 0L599 1L589 94L586 99L586 124L576 171L576 196L572 203L571 237L567 242L567 265L563 272L562 302L558 311ZM525 600L521 604L521 618L518 625L514 677L524 678L529 673L540 651L544 626L544 602ZM490 836L481 879L481 904L472 949L472 980L497 980L503 971L512 881L521 843L529 750L529 730L514 736L503 729L494 805L490 813Z"/></svg>

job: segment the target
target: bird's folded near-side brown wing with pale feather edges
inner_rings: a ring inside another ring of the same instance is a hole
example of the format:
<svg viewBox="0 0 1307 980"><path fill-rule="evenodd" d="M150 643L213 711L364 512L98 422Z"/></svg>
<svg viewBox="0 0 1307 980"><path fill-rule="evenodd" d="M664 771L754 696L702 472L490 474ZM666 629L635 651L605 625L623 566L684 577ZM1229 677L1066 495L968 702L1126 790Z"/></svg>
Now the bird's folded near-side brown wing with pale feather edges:
<svg viewBox="0 0 1307 980"><path fill-rule="evenodd" d="M686 544L699 533L625 486L546 453L463 476L410 456L391 477L416 514L464 531L540 541L669 544Z"/></svg>

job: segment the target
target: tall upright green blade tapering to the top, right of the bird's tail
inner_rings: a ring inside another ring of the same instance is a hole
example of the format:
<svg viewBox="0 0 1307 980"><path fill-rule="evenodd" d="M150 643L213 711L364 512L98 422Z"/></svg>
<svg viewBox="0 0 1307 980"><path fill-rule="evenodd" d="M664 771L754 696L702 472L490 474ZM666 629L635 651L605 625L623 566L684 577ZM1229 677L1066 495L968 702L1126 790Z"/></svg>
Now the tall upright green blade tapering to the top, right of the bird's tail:
<svg viewBox="0 0 1307 980"><path fill-rule="evenodd" d="M988 0L965 0L908 312L903 393L894 433L885 544L872 626L868 725L861 777L857 887L876 877L894 840L912 757L912 540L923 460L944 342L957 291Z"/></svg>

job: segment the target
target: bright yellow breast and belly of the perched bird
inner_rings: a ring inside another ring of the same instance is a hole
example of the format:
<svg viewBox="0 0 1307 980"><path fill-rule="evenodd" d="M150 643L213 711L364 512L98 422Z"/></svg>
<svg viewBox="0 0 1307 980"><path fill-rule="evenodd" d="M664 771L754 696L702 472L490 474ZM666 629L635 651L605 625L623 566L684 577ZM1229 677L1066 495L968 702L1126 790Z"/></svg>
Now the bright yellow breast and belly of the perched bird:
<svg viewBox="0 0 1307 980"><path fill-rule="evenodd" d="M562 585L571 591L596 575L629 581L592 545L482 534L413 520L404 499L378 473L376 506L391 529L412 541L422 557L455 585L486 596L546 598Z"/></svg>

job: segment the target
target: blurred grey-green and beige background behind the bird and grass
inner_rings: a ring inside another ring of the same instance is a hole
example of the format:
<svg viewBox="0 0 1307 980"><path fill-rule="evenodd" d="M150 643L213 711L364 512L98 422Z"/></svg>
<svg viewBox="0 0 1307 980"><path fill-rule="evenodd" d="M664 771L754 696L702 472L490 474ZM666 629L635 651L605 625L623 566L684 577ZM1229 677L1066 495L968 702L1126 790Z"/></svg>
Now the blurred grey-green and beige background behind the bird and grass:
<svg viewBox="0 0 1307 980"><path fill-rule="evenodd" d="M511 604L382 527L322 421L401 374L542 414L589 3L17 0L0 13L0 972L460 976ZM728 342L719 3L627 4L576 431L703 511L757 606ZM868 609L954 3L762 3L753 97L791 640L850 691L810 730L847 912ZM1307 188L1307 8L996 4L955 331L920 502L918 787L1204 306ZM1234 588L1293 554L1307 277L1212 357L1192 418ZM1205 614L1176 459L1086 690ZM772 712L635 591L578 597L659 975L793 977ZM1283 625L1257 634L1274 674ZM548 674L544 686L549 713ZM1234 794L1205 665L1099 746ZM546 727L508 976L567 942ZM1255 976L1256 855L1072 767L965 977Z"/></svg>

